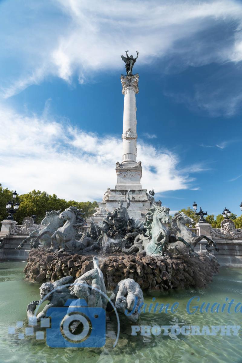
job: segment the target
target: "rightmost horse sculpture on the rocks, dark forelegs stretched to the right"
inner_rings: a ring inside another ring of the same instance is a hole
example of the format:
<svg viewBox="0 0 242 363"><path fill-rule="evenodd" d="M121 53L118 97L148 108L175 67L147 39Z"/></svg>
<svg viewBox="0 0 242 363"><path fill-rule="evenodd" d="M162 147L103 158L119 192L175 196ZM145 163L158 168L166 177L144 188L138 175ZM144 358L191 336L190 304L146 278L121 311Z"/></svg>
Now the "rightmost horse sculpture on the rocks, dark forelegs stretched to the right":
<svg viewBox="0 0 242 363"><path fill-rule="evenodd" d="M216 251L218 251L216 243L212 240L212 238L208 236L204 236L201 234L201 236L197 236L194 232L190 230L189 227L186 226L186 224L192 225L194 223L194 220L188 216L186 216L184 213L176 213L175 216L172 218L171 221L171 232L174 234L176 238L182 237L184 238L193 248L196 247L198 242L200 242L203 238L207 241L207 244L205 245L205 248L208 252L211 252L210 247L212 246ZM179 244L179 242L175 242L176 245L168 245L167 250L168 252L174 253L177 252L183 252L185 249L185 246L183 244ZM175 247L175 248L174 248Z"/></svg>

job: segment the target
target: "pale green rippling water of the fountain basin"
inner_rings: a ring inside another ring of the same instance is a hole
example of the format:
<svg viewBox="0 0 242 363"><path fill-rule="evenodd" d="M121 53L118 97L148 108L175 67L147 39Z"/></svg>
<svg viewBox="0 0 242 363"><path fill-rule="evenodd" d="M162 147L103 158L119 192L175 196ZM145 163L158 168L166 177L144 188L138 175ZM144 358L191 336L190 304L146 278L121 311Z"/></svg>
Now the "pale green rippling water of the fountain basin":
<svg viewBox="0 0 242 363"><path fill-rule="evenodd" d="M17 321L26 321L26 305L39 299L39 284L29 283L24 279L22 270L26 262L6 261L0 263L0 362L1 363L111 363L111 362L209 362L240 363L241 330L237 336L184 336L177 337L158 335L143 337L131 336L131 325L125 317L120 319L120 338L117 346L112 348L117 331L115 314L107 317L107 343L103 348L50 348L44 341L32 337L18 339L17 335L8 335L8 327L15 326ZM240 325L241 313L196 313L189 315L186 304L194 295L200 296L202 302L218 302L221 305L225 298L241 298L242 270L221 268L214 276L214 281L204 290L169 291L168 293L146 293L145 303L179 302L177 313L161 314L142 313L139 325ZM194 304L197 305L197 304Z"/></svg>

